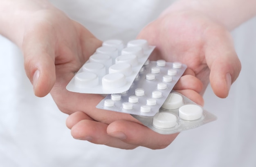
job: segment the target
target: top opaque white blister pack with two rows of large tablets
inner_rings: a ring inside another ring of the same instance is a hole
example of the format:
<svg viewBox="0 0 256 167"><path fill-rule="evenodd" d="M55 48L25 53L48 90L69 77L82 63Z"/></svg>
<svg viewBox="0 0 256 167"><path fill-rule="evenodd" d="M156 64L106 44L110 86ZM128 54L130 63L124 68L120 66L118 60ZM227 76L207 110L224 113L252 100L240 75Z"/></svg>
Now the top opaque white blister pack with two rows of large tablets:
<svg viewBox="0 0 256 167"><path fill-rule="evenodd" d="M117 94L127 91L154 50L146 40L107 40L68 83L68 91Z"/></svg>

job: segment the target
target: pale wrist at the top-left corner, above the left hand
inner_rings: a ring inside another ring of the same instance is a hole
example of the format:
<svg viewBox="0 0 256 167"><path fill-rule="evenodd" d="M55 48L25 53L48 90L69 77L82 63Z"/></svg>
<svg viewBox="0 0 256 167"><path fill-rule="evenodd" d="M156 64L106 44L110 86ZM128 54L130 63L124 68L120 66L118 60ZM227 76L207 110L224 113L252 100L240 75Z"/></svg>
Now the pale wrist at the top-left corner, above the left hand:
<svg viewBox="0 0 256 167"><path fill-rule="evenodd" d="M47 0L0 0L0 34L21 47L27 21L33 13L53 9Z"/></svg>

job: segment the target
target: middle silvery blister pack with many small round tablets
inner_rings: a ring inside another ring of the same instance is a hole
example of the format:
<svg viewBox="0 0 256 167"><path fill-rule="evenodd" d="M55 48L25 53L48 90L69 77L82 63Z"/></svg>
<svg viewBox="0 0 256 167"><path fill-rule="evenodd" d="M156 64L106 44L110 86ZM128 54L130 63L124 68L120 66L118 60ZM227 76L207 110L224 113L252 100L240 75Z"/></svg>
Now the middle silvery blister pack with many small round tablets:
<svg viewBox="0 0 256 167"><path fill-rule="evenodd" d="M127 114L154 116L185 70L186 65L180 62L148 61L128 91L109 94L96 107Z"/></svg>

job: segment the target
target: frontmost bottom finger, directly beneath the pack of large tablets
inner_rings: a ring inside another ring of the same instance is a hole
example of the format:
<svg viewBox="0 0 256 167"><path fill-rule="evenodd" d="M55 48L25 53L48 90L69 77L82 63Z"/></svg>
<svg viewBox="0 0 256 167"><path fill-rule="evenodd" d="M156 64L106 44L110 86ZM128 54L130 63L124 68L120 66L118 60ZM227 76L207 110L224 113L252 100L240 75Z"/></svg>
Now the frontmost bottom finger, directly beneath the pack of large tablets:
<svg viewBox="0 0 256 167"><path fill-rule="evenodd" d="M108 135L128 143L150 149L163 149L170 145L178 134L162 135L139 123L118 120L108 125ZM125 137L124 137L125 136Z"/></svg>

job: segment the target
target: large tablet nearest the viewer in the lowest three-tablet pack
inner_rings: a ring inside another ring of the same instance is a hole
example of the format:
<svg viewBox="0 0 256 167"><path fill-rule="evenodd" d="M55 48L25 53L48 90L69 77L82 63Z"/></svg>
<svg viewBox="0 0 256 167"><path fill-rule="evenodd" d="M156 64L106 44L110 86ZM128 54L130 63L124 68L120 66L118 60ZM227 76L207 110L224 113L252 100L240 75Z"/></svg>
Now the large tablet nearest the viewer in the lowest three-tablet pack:
<svg viewBox="0 0 256 167"><path fill-rule="evenodd" d="M159 112L153 117L153 126L158 128L171 128L177 124L177 117L167 112Z"/></svg>

